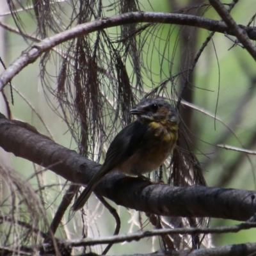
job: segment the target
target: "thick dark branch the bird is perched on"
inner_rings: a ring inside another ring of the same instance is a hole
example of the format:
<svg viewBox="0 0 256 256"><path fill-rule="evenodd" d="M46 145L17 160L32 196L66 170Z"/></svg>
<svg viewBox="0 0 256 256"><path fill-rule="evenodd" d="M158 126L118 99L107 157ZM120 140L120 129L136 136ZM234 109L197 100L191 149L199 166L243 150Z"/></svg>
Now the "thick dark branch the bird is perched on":
<svg viewBox="0 0 256 256"><path fill-rule="evenodd" d="M77 184L88 184L100 168L100 164L39 134L31 125L3 115L0 147ZM145 180L124 177L118 172L109 173L95 190L118 205L163 216L248 220L256 209L255 191L148 185Z"/></svg>

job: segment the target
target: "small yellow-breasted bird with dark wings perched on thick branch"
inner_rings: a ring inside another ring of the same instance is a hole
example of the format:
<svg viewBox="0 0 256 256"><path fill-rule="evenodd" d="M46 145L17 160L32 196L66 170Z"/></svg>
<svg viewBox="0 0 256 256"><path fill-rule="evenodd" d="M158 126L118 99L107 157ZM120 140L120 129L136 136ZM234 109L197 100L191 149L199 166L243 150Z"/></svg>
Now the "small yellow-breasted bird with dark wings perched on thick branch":
<svg viewBox="0 0 256 256"><path fill-rule="evenodd" d="M144 173L156 170L170 156L179 129L179 115L172 104L162 98L144 98L129 113L136 115L136 121L115 136L101 168L72 205L73 211L83 208L107 173L118 171L144 177Z"/></svg>

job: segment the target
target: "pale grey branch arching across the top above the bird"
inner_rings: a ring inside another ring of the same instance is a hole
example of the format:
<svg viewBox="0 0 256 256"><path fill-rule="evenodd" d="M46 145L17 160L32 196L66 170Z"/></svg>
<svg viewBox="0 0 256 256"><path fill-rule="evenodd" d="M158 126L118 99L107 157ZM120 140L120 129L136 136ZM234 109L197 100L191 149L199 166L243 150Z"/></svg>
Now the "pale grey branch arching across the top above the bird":
<svg viewBox="0 0 256 256"><path fill-rule="evenodd" d="M182 26L195 26L197 28L216 31L219 33L227 33L234 35L234 31L230 30L225 22L206 19L194 15L186 15L180 13L156 13L156 12L131 12L116 15L113 17L102 17L92 22L77 25L74 28L68 29L57 35L45 38L40 43L33 45L28 51L22 52L19 58L15 60L10 67L6 68L0 76L0 91L4 85L12 80L24 67L33 63L44 52L49 51L52 47L59 45L67 40L84 36L100 29L121 26L124 24L150 22L161 24L177 24ZM249 38L256 40L256 31L254 28L239 26L248 34Z"/></svg>

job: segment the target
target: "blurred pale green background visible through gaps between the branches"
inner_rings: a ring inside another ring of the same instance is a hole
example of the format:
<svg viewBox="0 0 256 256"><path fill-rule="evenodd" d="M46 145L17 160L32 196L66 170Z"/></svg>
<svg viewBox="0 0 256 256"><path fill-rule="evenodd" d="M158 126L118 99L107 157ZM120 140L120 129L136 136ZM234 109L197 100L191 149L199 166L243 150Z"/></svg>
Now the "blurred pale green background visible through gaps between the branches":
<svg viewBox="0 0 256 256"><path fill-rule="evenodd" d="M1 2L4 1L2 0ZM103 3L107 5L110 2L103 1ZM186 8L186 6L191 4L196 5L207 2L189 0L142 0L140 3L141 10L145 12L173 12L180 8ZM63 1L61 6L65 9L68 17L68 13L70 12L68 1ZM8 12L8 8L6 8L6 12ZM31 12L33 12L33 10L31 10ZM232 17L234 17L238 24L246 25L250 22L253 15L255 15L255 12L255 1L239 1L234 7L234 10L232 10ZM113 11L111 12L110 10L108 15L113 15ZM220 20L220 17L218 17L212 8L207 10L204 16L209 19ZM26 33L35 35L36 24L28 13L20 12L20 19L22 19L22 22L24 23ZM1 20L15 28L15 22L13 22L12 15L2 15ZM156 29L152 30L152 33L156 33L156 35L161 38L161 40L156 40L155 42L159 49L164 49L166 40L170 34L169 29L170 26L168 25L159 25ZM115 29L109 29L109 31L113 31L113 33L116 32ZM150 68L152 68L152 70L148 70L148 72L152 71L151 79L154 80L156 84L160 83L162 79L170 74L171 58L173 58L173 74L179 72L180 65L183 65L181 56L182 54L186 54L186 43L179 45L179 42L176 42L177 38L179 38L179 33L179 29L175 28L173 29L170 38L168 38L168 40L170 40L170 45L168 46L170 51L167 54L168 56L165 55L166 61L163 61L163 63L160 63L161 58L157 57L159 52L155 51L154 47L150 45L151 37L148 38L148 45L145 45L145 48L148 47L148 49L144 49L144 58L150 62ZM193 32L190 31L190 33ZM1 58L3 58L6 67L17 59L22 51L29 47L28 44L33 45L31 40L25 42L22 36L7 30L2 29L1 35ZM194 54L202 46L202 43L208 35L209 31L196 29ZM154 35L152 35L152 38L153 37ZM211 113L212 116L216 113L216 117L220 118L223 124L228 125L234 133L218 120L214 120L211 116L204 115L196 110L193 110L191 113L191 127L189 128L191 129L191 134L193 134L195 154L204 168L204 177L208 186L255 190L255 157L216 147L216 144L220 143L232 145L234 147L242 147L241 145L243 145L250 150L255 149L255 61L242 47L239 45L234 46L234 40L234 37L230 38L230 36L218 33L213 36L211 42L209 42L196 64L193 73L193 86L190 87L190 93L193 95L193 104L198 106L198 108L202 108L208 113ZM177 48L174 48L175 46L177 46ZM54 72L57 74L58 63L56 60L51 60L47 65L49 70L52 70L52 74L54 74ZM127 66L129 66L129 63L127 63ZM3 70L2 67L1 70ZM132 71L130 70L130 72ZM159 74L162 74L162 76L159 76ZM52 77L52 88L55 86L54 83L56 83L56 77ZM152 82L150 82L148 77L145 77L145 83ZM65 124L65 122L52 111L49 104L47 104L47 102L51 101L51 104L56 104L56 106L58 106L57 99L42 86L40 81L39 61L24 68L20 74L14 77L12 84L13 88L15 88L13 90L14 105L10 106L13 118L28 122L35 126L38 131L42 132L42 134L47 136L49 136L49 132L45 126L48 127L56 143L60 143L60 145L72 150L76 150L77 145L74 140L72 140L70 132L68 132L67 124ZM10 87L6 86L4 92L10 101ZM20 97L20 95L22 95L22 97ZM3 99L1 100L3 103ZM1 106L1 112L3 113L4 104L1 104ZM31 106L35 111L31 109ZM36 113L42 117L45 125L42 124ZM26 178L30 177L35 172L35 166L33 166L32 163L15 156L11 157L9 164L13 169L22 173ZM56 177L56 175L50 171L45 173L44 179L47 184L55 184L56 182L60 184L65 183L65 180ZM36 188L36 179L31 179L30 182L31 184L34 184ZM54 205L58 205L61 200L61 196L58 196L58 188L56 188L55 193L48 193L48 196L47 200L49 200L49 202L54 202ZM55 200L56 196L58 196L57 200ZM54 214L54 205L51 205L52 208L50 207L51 214ZM95 200L94 196L90 198L88 205L97 205L97 207L95 207L97 211L91 209L90 212L92 216L88 213L88 216L86 217L88 220L92 218L93 224L90 223L92 224L90 232L92 232L94 236L98 236L99 234L100 236L109 236L113 234L113 225L115 225L115 222L108 212L103 209L102 205L97 204L97 200ZM138 213L133 210L127 211L122 207L118 207L118 211L122 217L120 234L137 230L138 223L136 222L139 218ZM49 213L49 220L51 220L51 214ZM102 217L102 215L104 217ZM142 220L146 221L147 218L143 216ZM76 234L76 230L74 230L73 221L68 222L67 217L67 220L65 220L64 223L67 224L68 232L72 234L71 237L80 237L80 234ZM97 222L97 228L95 228L95 222ZM213 219L211 221L211 227L234 225L236 223L236 221ZM59 232L61 233L61 231ZM97 232L99 232L99 234L97 234ZM59 235L63 236L62 234ZM213 243L217 246L223 244L255 242L254 235L255 230L253 229L237 234L221 234L213 237ZM147 239L144 239L140 243L145 243L146 245L148 241ZM122 253L124 252L124 248L127 248L127 250L129 248L129 253L145 253L144 246L138 246L135 242L125 245L115 245L109 253ZM148 248L148 252L150 252L150 250L157 250L157 245L156 248ZM98 252L100 252L100 249Z"/></svg>

